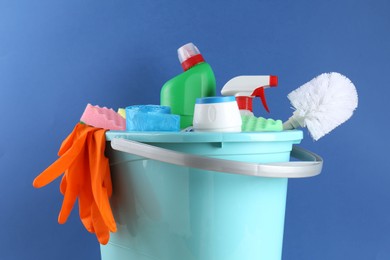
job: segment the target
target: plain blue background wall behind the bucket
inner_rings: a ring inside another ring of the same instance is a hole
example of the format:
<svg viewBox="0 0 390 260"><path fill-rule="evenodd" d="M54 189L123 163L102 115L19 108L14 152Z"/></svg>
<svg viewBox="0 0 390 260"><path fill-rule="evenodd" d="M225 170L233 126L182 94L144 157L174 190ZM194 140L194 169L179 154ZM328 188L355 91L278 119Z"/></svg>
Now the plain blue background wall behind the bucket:
<svg viewBox="0 0 390 260"><path fill-rule="evenodd" d="M158 104L187 42L218 92L234 76L279 76L258 116L287 119L287 94L323 72L354 82L348 122L317 142L305 130L325 165L289 183L283 259L390 259L389 12L387 0L0 0L0 259L99 258L77 212L57 224L59 182L32 181L87 103Z"/></svg>

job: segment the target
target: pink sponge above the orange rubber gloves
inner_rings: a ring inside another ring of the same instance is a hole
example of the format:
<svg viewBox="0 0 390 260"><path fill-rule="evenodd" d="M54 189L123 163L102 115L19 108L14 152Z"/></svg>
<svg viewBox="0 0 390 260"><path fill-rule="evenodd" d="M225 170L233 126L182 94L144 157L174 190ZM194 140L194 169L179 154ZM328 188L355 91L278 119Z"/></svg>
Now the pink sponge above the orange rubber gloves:
<svg viewBox="0 0 390 260"><path fill-rule="evenodd" d="M107 107L88 104L80 120L87 125L109 130L125 130L126 120Z"/></svg>

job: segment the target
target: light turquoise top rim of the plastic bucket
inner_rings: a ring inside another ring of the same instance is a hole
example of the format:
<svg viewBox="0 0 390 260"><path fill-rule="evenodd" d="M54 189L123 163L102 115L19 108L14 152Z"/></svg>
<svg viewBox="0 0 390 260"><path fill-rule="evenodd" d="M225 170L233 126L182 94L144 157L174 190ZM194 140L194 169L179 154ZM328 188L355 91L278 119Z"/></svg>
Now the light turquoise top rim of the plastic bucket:
<svg viewBox="0 0 390 260"><path fill-rule="evenodd" d="M278 142L299 143L303 139L302 130L278 132L127 132L107 131L106 140L124 138L146 143L204 143L204 142Z"/></svg>

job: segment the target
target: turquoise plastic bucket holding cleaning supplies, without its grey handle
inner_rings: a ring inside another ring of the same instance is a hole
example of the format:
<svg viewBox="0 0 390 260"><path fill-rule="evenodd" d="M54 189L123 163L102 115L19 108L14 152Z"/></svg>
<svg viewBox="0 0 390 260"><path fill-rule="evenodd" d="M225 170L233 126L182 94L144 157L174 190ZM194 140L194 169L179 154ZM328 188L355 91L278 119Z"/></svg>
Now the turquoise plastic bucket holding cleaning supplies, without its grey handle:
<svg viewBox="0 0 390 260"><path fill-rule="evenodd" d="M207 158L274 163L290 160L302 132L111 131L106 136ZM118 231L101 246L103 260L281 259L287 178L177 166L109 144L106 152Z"/></svg>

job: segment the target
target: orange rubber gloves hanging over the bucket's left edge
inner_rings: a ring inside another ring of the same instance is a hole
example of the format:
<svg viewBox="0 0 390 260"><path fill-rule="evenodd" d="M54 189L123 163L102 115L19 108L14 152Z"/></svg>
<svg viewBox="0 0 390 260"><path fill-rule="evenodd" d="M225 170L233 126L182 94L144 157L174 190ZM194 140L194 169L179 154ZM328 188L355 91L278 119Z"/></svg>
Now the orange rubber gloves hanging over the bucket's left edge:
<svg viewBox="0 0 390 260"><path fill-rule="evenodd" d="M105 129L78 123L63 141L60 158L34 179L41 188L64 174L60 191L64 195L58 223L64 224L78 199L79 215L84 227L95 233L105 245L116 222L110 207L112 183L108 158L104 155Z"/></svg>

